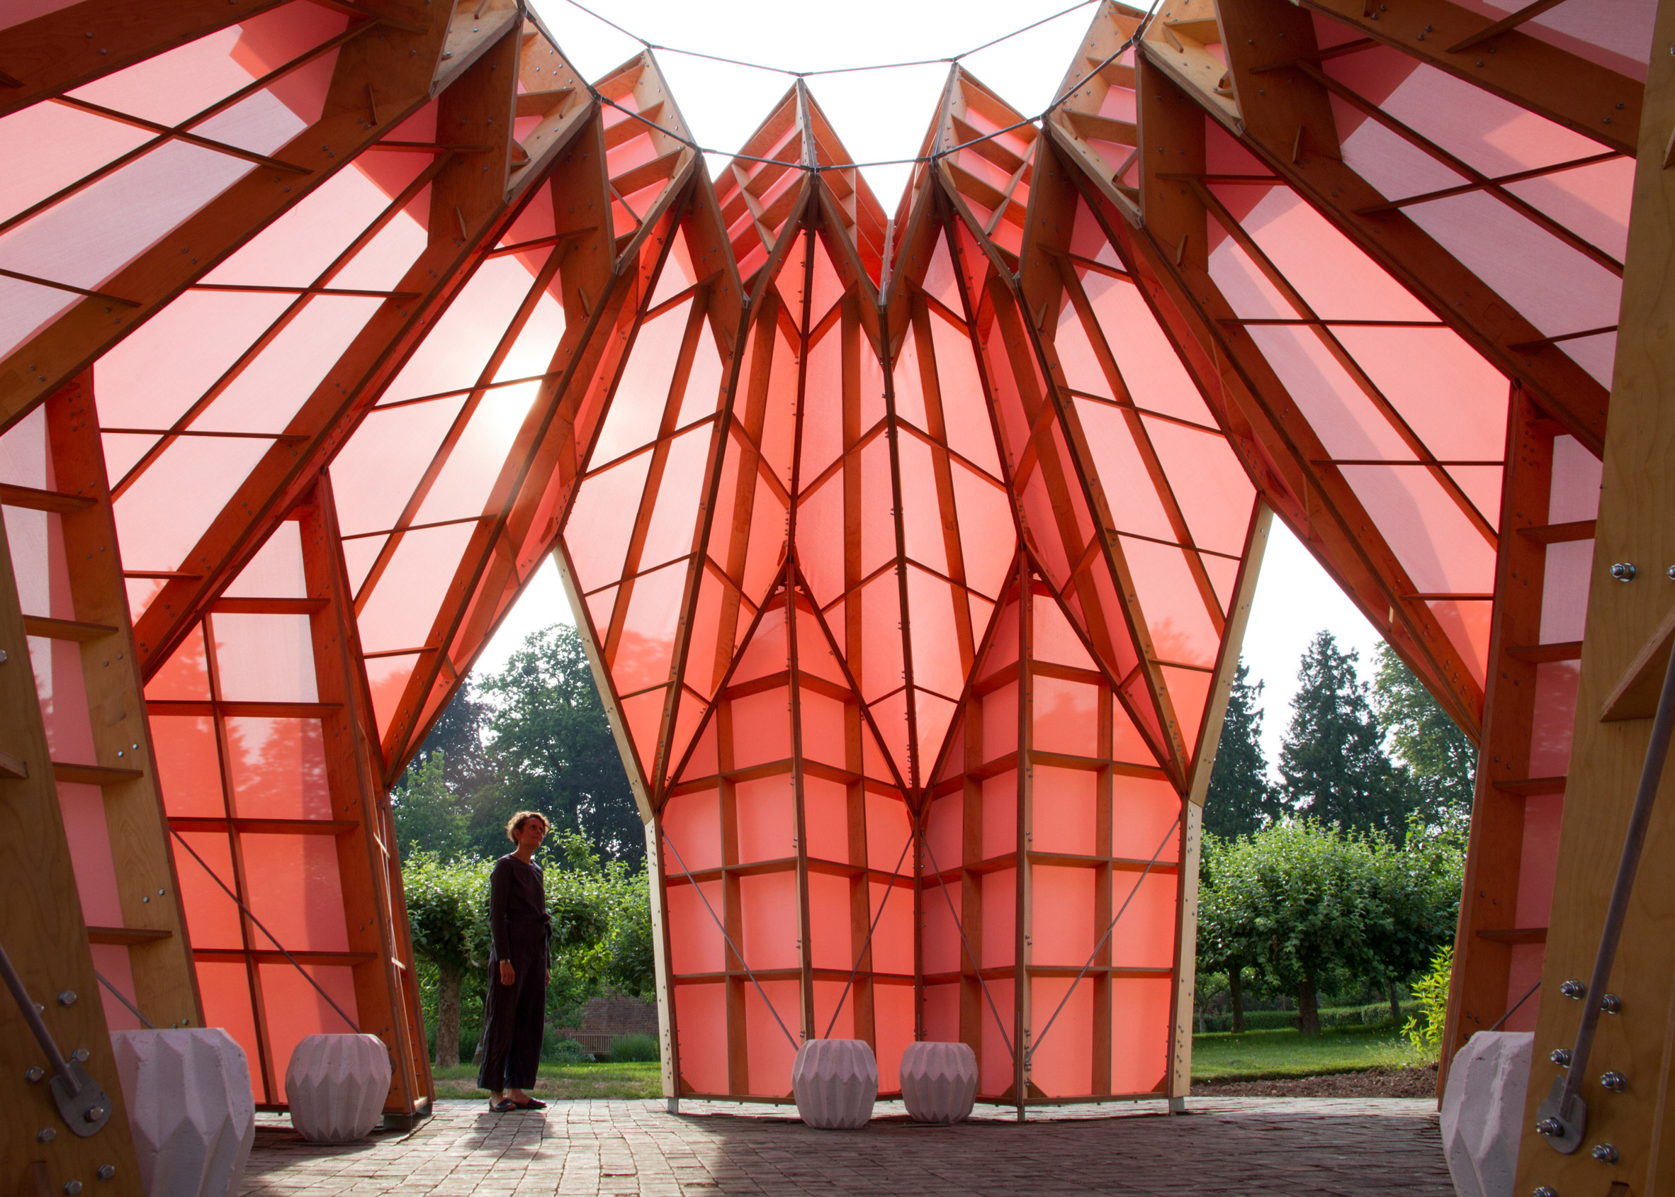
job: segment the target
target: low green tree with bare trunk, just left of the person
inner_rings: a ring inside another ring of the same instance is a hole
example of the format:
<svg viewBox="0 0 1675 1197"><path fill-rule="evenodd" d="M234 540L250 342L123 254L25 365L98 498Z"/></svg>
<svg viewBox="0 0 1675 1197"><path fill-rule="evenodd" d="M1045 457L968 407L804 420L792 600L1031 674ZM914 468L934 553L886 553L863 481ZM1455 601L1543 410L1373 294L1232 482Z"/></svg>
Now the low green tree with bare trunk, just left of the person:
<svg viewBox="0 0 1675 1197"><path fill-rule="evenodd" d="M430 852L402 860L414 952L436 964L436 1063L459 1063L459 989L489 961L491 860L444 862Z"/></svg>

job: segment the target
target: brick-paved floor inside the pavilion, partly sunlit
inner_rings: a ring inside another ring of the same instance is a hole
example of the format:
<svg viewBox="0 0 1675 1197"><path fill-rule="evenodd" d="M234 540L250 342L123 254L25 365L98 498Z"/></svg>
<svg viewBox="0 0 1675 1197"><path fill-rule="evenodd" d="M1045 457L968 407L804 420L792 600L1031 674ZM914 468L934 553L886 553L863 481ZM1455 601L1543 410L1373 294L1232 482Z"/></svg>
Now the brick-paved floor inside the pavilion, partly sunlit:
<svg viewBox="0 0 1675 1197"><path fill-rule="evenodd" d="M861 1132L809 1130L777 1106L554 1101L492 1115L439 1101L407 1135L313 1147L263 1117L246 1197L685 1197L702 1194L1343 1194L1452 1197L1434 1101L1191 1098L1030 1112L978 1106L958 1127L921 1127L881 1103Z"/></svg>

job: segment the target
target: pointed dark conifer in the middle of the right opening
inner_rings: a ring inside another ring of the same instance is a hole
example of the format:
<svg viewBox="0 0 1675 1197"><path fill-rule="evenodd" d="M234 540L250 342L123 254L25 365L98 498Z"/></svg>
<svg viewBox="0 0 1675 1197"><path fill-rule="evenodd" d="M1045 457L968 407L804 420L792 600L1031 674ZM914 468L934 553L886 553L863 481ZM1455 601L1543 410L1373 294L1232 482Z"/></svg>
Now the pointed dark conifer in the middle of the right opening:
<svg viewBox="0 0 1675 1197"><path fill-rule="evenodd" d="M1407 776L1384 753L1384 736L1355 674L1355 652L1320 632L1303 652L1280 775L1293 811L1400 840L1412 806Z"/></svg>

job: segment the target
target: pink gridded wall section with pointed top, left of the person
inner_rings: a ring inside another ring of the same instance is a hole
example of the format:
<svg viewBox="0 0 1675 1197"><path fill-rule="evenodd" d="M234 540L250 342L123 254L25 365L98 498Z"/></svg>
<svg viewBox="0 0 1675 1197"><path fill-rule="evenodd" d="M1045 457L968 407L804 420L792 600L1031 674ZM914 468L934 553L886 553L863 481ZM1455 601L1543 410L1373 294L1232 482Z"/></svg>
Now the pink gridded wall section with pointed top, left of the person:
<svg viewBox="0 0 1675 1197"><path fill-rule="evenodd" d="M228 587L240 610L204 617L146 686L204 1019L245 1048L268 1105L302 1036L350 1029L280 949L355 1019L370 959L348 942L335 837L353 823L333 821L307 593L288 520Z"/></svg>

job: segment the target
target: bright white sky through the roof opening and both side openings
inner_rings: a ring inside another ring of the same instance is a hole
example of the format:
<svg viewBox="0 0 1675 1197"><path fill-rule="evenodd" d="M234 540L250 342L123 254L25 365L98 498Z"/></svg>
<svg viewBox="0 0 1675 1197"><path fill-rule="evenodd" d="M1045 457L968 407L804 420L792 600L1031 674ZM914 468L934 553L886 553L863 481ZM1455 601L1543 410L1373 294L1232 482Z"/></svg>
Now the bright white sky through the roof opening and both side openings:
<svg viewBox="0 0 1675 1197"><path fill-rule="evenodd" d="M846 0L843 5L600 0L590 7L663 45L816 70L960 54L1067 3L965 0L953 7L923 0ZM640 52L636 42L568 0L536 0L534 8L558 39L559 50L590 79ZM1077 8L965 59L965 67L1025 116L1037 116L1054 99L1092 13L1092 5ZM695 139L722 151L742 146L792 82L782 74L667 50L657 57ZM811 79L809 87L849 153L866 163L918 153L946 72L946 65L930 65L826 75ZM717 163L710 159L712 174ZM908 166L863 168L886 213L894 211L908 171ZM529 632L553 622L570 624L573 617L558 570L548 562L477 659L476 672L502 669ZM1290 721L1298 661L1320 629L1330 629L1345 647L1358 649L1362 672L1368 676L1377 632L1296 538L1275 521L1245 635L1251 676L1266 682L1263 741L1270 763L1278 758Z"/></svg>

